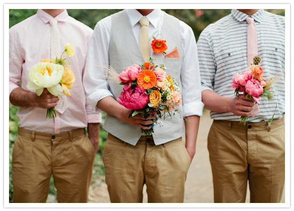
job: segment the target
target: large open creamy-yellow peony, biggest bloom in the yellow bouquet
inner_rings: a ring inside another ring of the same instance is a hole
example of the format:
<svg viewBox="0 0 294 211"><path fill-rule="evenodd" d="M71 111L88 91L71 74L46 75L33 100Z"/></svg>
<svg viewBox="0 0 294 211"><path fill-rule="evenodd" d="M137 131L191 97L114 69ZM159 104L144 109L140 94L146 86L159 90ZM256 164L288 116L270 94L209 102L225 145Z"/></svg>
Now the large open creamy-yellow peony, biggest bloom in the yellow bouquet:
<svg viewBox="0 0 294 211"><path fill-rule="evenodd" d="M27 88L29 90L36 90L38 96L43 93L44 88L55 95L60 96L63 91L59 84L64 73L64 67L49 62L40 62L34 65L29 72Z"/></svg>

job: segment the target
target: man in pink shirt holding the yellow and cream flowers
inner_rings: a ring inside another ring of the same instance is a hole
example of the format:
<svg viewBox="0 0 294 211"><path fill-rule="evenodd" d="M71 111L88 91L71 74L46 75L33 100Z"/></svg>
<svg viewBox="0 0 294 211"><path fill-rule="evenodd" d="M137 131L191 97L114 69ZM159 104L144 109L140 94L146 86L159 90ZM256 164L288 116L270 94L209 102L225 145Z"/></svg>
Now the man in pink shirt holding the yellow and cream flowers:
<svg viewBox="0 0 294 211"><path fill-rule="evenodd" d="M47 109L57 106L60 98L46 89L37 96L27 83L33 65L56 56L50 48L52 19L57 21L61 49L66 43L74 44L76 53L69 60L75 82L66 110L47 119ZM101 122L101 114L87 102L82 83L92 33L66 10L38 10L10 29L10 103L20 106L13 150L14 202L46 202L52 174L58 202L88 200Z"/></svg>

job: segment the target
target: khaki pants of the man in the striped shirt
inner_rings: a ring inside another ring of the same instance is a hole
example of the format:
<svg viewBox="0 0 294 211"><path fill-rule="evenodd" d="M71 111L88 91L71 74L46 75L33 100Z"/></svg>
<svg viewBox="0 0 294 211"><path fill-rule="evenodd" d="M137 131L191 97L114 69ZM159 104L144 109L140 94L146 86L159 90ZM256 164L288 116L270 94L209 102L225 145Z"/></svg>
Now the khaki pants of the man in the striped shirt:
<svg viewBox="0 0 294 211"><path fill-rule="evenodd" d="M214 202L280 202L285 181L284 119L239 124L214 120L208 134Z"/></svg>

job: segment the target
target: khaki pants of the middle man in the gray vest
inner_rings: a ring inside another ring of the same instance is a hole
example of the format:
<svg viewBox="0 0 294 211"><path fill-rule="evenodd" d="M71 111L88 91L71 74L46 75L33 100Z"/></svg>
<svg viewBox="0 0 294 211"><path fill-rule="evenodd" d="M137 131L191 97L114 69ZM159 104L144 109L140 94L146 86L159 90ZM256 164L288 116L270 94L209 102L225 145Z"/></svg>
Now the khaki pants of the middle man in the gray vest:
<svg viewBox="0 0 294 211"><path fill-rule="evenodd" d="M181 138L155 145L142 136L133 146L109 134L103 161L111 202L141 203L144 183L148 202L184 200L190 157Z"/></svg>

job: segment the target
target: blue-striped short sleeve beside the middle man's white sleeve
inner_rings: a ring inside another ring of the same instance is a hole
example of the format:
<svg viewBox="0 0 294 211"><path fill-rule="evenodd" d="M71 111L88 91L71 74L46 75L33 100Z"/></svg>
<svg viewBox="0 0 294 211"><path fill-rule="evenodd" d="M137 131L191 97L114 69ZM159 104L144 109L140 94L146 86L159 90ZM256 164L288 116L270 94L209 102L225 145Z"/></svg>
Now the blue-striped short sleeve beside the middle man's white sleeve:
<svg viewBox="0 0 294 211"><path fill-rule="evenodd" d="M200 34L197 42L197 50L201 75L201 91L214 91L216 63L211 42L205 30Z"/></svg>

